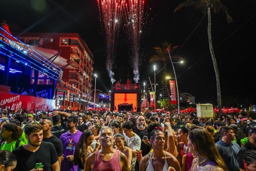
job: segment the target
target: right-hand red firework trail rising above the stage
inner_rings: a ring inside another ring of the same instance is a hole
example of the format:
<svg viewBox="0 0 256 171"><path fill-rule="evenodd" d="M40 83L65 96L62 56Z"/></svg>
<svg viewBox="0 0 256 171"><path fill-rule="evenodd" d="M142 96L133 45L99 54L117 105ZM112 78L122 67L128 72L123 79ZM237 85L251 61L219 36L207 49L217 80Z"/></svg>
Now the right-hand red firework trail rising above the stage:
<svg viewBox="0 0 256 171"><path fill-rule="evenodd" d="M127 0L125 12L125 28L129 38L131 60L133 65L133 80L139 81L140 39L145 25L144 0Z"/></svg>

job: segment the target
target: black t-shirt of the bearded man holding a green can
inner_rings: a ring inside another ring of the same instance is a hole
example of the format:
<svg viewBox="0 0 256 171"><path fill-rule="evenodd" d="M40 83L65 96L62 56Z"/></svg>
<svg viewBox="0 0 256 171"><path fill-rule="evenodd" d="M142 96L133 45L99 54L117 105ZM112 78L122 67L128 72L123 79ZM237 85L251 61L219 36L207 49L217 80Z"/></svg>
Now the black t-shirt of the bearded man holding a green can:
<svg viewBox="0 0 256 171"><path fill-rule="evenodd" d="M12 151L17 157L15 171L30 171L36 163L44 165L44 171L52 171L52 164L58 161L56 150L52 143L42 142L36 152L31 152L20 146Z"/></svg>

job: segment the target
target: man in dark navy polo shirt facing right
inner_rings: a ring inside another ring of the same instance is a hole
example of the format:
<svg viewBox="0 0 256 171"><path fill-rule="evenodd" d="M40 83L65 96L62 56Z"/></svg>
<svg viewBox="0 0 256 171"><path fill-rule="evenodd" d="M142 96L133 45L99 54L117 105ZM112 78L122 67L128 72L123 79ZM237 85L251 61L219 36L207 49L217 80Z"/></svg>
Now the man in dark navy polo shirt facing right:
<svg viewBox="0 0 256 171"><path fill-rule="evenodd" d="M215 143L215 145L228 167L228 170L240 171L238 164L238 152L240 146L232 142L235 140L234 129L230 126L223 126L220 128L220 135L222 138Z"/></svg>

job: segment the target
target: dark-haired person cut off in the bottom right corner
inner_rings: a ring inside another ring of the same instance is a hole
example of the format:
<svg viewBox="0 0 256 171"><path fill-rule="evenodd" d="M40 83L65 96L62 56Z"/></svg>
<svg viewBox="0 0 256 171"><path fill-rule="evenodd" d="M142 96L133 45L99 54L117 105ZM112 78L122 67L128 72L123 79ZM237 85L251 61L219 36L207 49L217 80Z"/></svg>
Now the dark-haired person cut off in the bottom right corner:
<svg viewBox="0 0 256 171"><path fill-rule="evenodd" d="M246 171L256 170L256 150L249 150L245 152L244 166Z"/></svg>

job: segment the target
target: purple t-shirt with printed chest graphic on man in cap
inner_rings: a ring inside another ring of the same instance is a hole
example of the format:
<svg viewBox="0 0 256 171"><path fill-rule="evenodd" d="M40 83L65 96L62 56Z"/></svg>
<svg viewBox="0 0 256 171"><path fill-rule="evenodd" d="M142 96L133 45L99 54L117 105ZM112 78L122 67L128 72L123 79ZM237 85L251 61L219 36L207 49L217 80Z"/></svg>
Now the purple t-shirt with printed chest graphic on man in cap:
<svg viewBox="0 0 256 171"><path fill-rule="evenodd" d="M74 163L71 161L68 161L66 159L66 156L68 155L74 155L75 153L75 147L78 144L78 141L82 135L82 132L79 130L74 134L69 134L68 132L62 134L60 136L60 140L63 144L63 154L64 159L61 162L61 168L60 171L76 171L78 169L78 165L74 165Z"/></svg>

